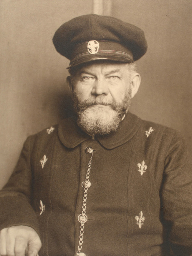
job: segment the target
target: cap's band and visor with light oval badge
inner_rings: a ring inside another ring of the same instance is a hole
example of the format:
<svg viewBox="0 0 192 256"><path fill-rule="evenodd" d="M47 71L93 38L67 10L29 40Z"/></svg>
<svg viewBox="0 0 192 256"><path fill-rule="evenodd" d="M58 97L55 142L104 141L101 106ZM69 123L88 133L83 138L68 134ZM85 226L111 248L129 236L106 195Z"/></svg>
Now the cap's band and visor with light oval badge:
<svg viewBox="0 0 192 256"><path fill-rule="evenodd" d="M70 57L70 67L101 59L133 62L133 55L131 50L118 42L91 40L79 43L73 48Z"/></svg>

